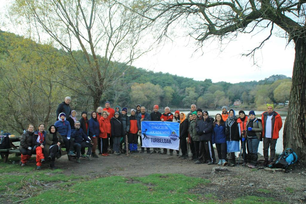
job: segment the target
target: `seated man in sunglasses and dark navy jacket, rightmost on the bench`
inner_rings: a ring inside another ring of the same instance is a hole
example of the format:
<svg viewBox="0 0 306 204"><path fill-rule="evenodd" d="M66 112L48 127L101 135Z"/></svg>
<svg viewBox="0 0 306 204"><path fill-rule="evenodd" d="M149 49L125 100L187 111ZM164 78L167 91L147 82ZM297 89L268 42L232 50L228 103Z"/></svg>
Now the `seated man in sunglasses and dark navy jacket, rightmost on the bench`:
<svg viewBox="0 0 306 204"><path fill-rule="evenodd" d="M80 122L76 121L74 123L75 129L71 132L71 138L73 140L73 147L76 151L76 163L80 164L80 157L81 157L81 148L88 147L87 154L85 156L86 159L92 160L90 158L91 155L91 148L92 148L92 142L88 138L86 134L84 134L84 131L82 128L80 128Z"/></svg>

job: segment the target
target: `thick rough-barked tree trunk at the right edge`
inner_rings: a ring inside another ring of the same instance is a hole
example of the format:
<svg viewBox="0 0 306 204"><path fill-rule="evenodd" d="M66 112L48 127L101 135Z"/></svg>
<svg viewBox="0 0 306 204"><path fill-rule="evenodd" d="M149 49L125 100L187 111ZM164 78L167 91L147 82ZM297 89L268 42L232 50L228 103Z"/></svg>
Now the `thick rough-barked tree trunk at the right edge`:
<svg viewBox="0 0 306 204"><path fill-rule="evenodd" d="M306 159L306 42L295 42L292 88L285 121L283 145L292 148L300 159Z"/></svg>

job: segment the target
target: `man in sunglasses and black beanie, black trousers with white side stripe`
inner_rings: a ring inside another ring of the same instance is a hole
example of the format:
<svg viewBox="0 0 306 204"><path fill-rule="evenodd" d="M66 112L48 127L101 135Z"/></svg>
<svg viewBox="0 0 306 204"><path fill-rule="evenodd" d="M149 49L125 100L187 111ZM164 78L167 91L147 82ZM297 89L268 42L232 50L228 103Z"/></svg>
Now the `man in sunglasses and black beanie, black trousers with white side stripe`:
<svg viewBox="0 0 306 204"><path fill-rule="evenodd" d="M200 138L200 152L203 151L208 155L208 165L214 164L216 161L211 141L213 123L214 119L208 116L208 111L203 111L203 120L199 120L196 126L196 133Z"/></svg>

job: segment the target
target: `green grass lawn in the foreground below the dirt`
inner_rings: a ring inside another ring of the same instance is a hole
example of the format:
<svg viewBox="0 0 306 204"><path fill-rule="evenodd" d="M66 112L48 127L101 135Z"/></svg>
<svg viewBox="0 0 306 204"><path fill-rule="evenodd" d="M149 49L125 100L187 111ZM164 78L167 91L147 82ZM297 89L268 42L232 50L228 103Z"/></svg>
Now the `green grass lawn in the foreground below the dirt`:
<svg viewBox="0 0 306 204"><path fill-rule="evenodd" d="M1 161L0 161L1 162ZM16 162L18 163L18 162ZM37 171L33 165L0 164L0 203L219 203L215 195L191 193L207 179L182 174L122 177L63 174L62 169ZM85 174L86 175L86 174ZM229 203L279 203L271 198L241 197Z"/></svg>

